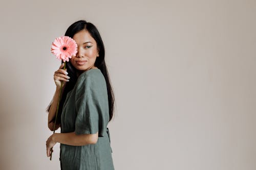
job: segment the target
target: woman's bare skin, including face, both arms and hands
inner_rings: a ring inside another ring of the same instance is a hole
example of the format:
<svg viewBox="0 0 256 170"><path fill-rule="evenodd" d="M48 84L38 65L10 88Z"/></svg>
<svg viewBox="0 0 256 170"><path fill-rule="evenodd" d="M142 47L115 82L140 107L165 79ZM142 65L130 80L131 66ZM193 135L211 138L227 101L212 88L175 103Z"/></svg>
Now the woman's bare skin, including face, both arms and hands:
<svg viewBox="0 0 256 170"><path fill-rule="evenodd" d="M82 72L89 69L96 69L94 65L96 58L99 57L99 51L97 43L94 38L90 35L87 30L82 30L76 33L73 36L73 39L76 41L77 54L72 56L70 59L71 64L77 69L79 76ZM78 61L86 61L85 63L78 63ZM60 93L61 81L63 81L63 86L66 85L66 82L69 81L70 77L68 76L67 68L62 69L64 63L62 63L57 71L54 72L54 82L56 84L56 91L53 97L53 103L50 107L48 114L48 128L53 131L54 122L50 123L50 120L55 117L57 110L58 95ZM55 125L55 130L57 130L60 125ZM59 142L63 144L81 146L86 144L95 144L98 140L98 132L95 134L81 134L77 135L75 132L70 133L54 133L46 141L47 156L50 157L50 149Z"/></svg>

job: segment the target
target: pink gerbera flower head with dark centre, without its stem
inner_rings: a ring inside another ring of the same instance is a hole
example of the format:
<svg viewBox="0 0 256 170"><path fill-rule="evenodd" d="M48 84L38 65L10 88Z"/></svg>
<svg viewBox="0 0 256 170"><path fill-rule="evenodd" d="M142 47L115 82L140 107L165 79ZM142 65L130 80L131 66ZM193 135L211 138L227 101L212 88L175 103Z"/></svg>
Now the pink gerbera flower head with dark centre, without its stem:
<svg viewBox="0 0 256 170"><path fill-rule="evenodd" d="M68 36L58 37L52 43L51 52L64 62L69 61L77 53L76 41Z"/></svg>

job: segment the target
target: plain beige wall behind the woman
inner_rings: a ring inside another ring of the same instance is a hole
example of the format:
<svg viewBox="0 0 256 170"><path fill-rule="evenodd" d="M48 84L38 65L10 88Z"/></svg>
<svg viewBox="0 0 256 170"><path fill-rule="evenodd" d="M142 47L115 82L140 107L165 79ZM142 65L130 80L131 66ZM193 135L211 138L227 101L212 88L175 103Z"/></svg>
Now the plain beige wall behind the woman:
<svg viewBox="0 0 256 170"><path fill-rule="evenodd" d="M1 1L0 14L0 169L60 169L45 144L50 45L79 19L105 45L116 169L256 169L255 1Z"/></svg>

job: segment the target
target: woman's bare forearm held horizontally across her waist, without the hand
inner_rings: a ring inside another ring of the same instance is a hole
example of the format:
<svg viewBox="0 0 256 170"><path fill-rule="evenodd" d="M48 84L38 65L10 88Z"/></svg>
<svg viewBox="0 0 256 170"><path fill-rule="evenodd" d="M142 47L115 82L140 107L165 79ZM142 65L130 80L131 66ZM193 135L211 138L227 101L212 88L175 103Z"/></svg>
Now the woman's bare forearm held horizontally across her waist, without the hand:
<svg viewBox="0 0 256 170"><path fill-rule="evenodd" d="M86 144L95 144L98 140L98 132L95 134L77 135L75 132L54 133L53 141L68 145L82 146Z"/></svg>

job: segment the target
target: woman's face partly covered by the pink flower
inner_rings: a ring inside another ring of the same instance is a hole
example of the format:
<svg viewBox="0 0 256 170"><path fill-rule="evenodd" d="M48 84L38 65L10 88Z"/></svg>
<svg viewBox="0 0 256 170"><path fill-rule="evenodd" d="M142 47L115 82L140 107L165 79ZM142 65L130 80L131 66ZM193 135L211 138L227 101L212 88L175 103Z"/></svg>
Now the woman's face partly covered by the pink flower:
<svg viewBox="0 0 256 170"><path fill-rule="evenodd" d="M70 59L71 64L81 72L95 68L96 57L99 56L97 43L87 30L82 30L73 36L77 43L77 54Z"/></svg>

